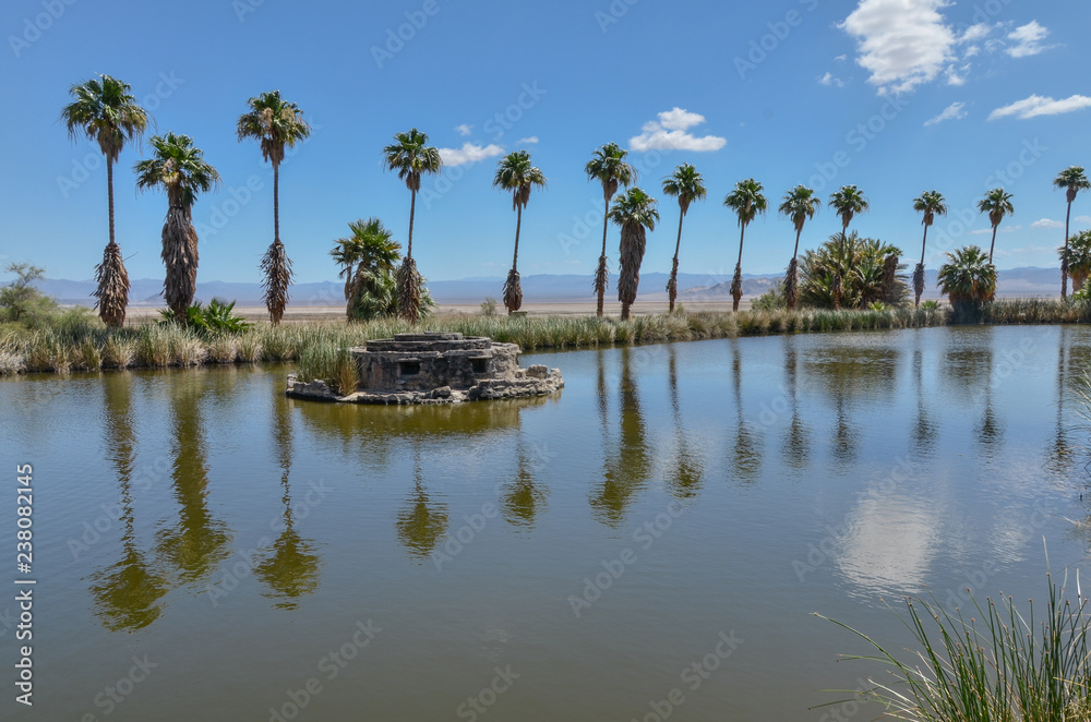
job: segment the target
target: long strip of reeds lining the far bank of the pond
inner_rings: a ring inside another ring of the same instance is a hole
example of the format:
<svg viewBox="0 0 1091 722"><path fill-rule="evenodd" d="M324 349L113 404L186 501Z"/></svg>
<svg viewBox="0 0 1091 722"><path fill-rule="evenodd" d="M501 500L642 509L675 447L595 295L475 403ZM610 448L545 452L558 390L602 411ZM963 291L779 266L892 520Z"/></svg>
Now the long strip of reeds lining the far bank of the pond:
<svg viewBox="0 0 1091 722"><path fill-rule="evenodd" d="M1087 323L1089 306L1074 301L997 301L982 309L980 323ZM740 313L673 313L630 321L597 316L434 316L430 330L488 336L525 351L594 348L620 344L734 338L770 334L923 328L951 323L946 306L862 311L800 309ZM259 324L236 333L176 324L106 328L89 315L29 329L0 326L0 375L192 366L217 363L300 363L303 378L332 378L344 365L341 349L413 328L399 318L362 323ZM334 363L335 359L339 359ZM313 363L312 363L313 361ZM305 362L305 363L303 363ZM348 378L346 378L346 383Z"/></svg>

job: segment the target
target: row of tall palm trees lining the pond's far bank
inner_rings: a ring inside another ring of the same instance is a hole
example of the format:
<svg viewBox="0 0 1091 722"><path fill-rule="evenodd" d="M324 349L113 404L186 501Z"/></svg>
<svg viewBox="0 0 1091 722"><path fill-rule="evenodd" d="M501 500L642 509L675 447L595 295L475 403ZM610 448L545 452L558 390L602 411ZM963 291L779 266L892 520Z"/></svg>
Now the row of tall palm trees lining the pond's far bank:
<svg viewBox="0 0 1091 722"><path fill-rule="evenodd" d="M103 262L95 268L98 287L95 297L98 299L99 315L110 326L124 323L125 308L129 300L129 277L124 268L120 246L115 238L113 222L113 164L118 160L127 142L140 141L147 128L148 115L137 105L131 88L127 83L109 75L99 75L85 83L73 85L72 101L67 105L61 119L64 121L70 137L80 134L98 143L106 156L107 185L109 203L109 242L104 251ZM291 284L291 260L280 240L279 220L279 168L284 161L286 148L293 147L310 136L311 127L303 120L303 111L295 104L285 100L279 91L263 93L247 101L248 110L239 117L237 136L241 142L253 139L260 144L262 157L273 167L273 242L261 261L263 272L264 300L268 309L269 320L277 324L284 316L288 303L288 289ZM208 165L202 152L188 135L167 132L151 139L153 157L137 163L136 185L140 190L161 189L167 194L167 216L164 221L161 241L161 257L167 267L164 281L164 294L176 317L182 317L184 310L193 301L196 291L197 269L197 236L192 222L192 206L199 193L212 190L220 182L219 173ZM394 136L394 143L383 148L384 166L395 171L410 192L409 232L406 254L395 273L397 302L394 304L397 313L416 323L420 317L422 302L422 279L417 272L412 256L413 221L416 216L417 192L421 186L421 178L425 173L439 173L443 161L439 148L428 145L428 135L411 129L407 133ZM632 188L619 198L611 208L611 200L619 188L628 188L637 179L636 169L626 161L627 152L616 143L608 143L592 154L585 166L589 180L601 183L606 213L602 224L602 252L595 272L594 288L597 294L598 315L603 313L603 300L608 288L607 239L609 224L613 220L621 227L621 264L619 276L619 300L622 302L623 317L636 299L639 284L639 265L644 257L647 238L646 231L655 228L659 220L656 201L639 188ZM523 290L519 282L518 253L519 236L523 225L523 210L527 207L533 188L546 188L547 180L540 168L530 161L526 151L508 154L497 165L493 185L500 190L512 192L512 207L516 212L515 251L512 268L504 282L504 305L508 313L518 311L523 304ZM1060 254L1062 261L1062 297L1068 294L1068 276L1071 265L1069 254L1069 219L1071 205L1080 190L1091 189L1083 168L1072 166L1063 170L1054 180L1054 185L1066 191L1067 212L1065 217L1065 245ZM707 189L696 168L691 164L682 164L662 182L663 193L673 196L679 203L679 231L674 245L674 257L670 279L667 284L670 310L674 310L678 297L679 253L682 244L682 226L685 215L694 201L704 200ZM748 178L735 183L734 189L724 197L723 205L738 217L739 257L735 263L731 281L732 309L739 310L742 298L742 254L746 227L764 214L768 201L762 183ZM804 224L813 219L822 202L815 196L814 190L796 185L784 194L779 212L792 220L795 228L795 245L784 277L784 294L789 309L794 309L799 302L799 245ZM843 185L829 197L829 206L841 219L841 242L847 242L849 225L852 218L868 209L868 202L855 185ZM913 201L916 212L923 214L924 239L921 244L921 262L913 273L913 290L915 303L924 290L924 257L927 246L928 228L936 216L948 210L943 194L938 191L926 191ZM978 203L981 213L988 214L992 224L993 238L990 244L988 263L992 264L993 251L996 244L996 231L1005 216L1014 213L1011 194L1004 189L993 189ZM372 219L377 222L377 219ZM361 228L368 225L358 221ZM353 233L357 229L353 228ZM388 240L388 239L387 239ZM339 262L340 263L340 262ZM898 258L891 255L886 260L887 273L894 274ZM346 277L346 293L350 287L359 291L367 286L365 273L359 269L359 263L341 263L348 269ZM362 275L361 275L362 274ZM359 276L359 277L358 277ZM373 284L375 279L372 279ZM835 299L840 298L843 279L839 272L831 278ZM374 288L372 288L374 290ZM347 299L350 300L350 299ZM349 304L351 306L351 303Z"/></svg>

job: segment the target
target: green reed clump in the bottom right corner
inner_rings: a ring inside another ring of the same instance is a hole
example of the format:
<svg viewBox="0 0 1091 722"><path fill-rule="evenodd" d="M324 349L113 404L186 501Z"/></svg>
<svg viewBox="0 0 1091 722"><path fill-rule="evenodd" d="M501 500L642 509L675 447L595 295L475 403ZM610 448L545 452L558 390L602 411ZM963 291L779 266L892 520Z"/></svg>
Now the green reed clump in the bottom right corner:
<svg viewBox="0 0 1091 722"><path fill-rule="evenodd" d="M972 599L967 619L931 601L908 600L908 618L899 618L920 648L915 659L902 662L862 631L832 621L866 640L876 655L870 660L890 669L888 683L872 682L858 689L880 702L899 720L928 722L1087 722L1091 720L1091 660L1088 659L1088 600L1065 597L1050 575L1044 615L1034 603L1027 615L1011 597L999 603ZM1067 582L1067 575L1065 581ZM975 612L975 614L973 614ZM818 615L822 616L822 615ZM828 617L823 617L828 618ZM832 702L839 703L839 702Z"/></svg>

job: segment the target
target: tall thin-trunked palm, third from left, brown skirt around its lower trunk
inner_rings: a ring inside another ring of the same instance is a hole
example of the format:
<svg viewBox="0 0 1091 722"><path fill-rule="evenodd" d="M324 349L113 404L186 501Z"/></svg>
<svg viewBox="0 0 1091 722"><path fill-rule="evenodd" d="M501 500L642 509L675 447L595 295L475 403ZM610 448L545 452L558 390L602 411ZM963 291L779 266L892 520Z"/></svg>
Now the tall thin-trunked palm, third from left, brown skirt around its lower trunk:
<svg viewBox="0 0 1091 722"><path fill-rule="evenodd" d="M265 277L265 308L275 326L284 317L288 305L288 286L291 285L291 260L280 242L280 163L285 146L311 134L311 127L303 120L303 111L295 103L280 97L280 91L262 93L247 100L250 110L239 116L238 137L252 137L261 143L262 158L273 164L273 243L262 258Z"/></svg>

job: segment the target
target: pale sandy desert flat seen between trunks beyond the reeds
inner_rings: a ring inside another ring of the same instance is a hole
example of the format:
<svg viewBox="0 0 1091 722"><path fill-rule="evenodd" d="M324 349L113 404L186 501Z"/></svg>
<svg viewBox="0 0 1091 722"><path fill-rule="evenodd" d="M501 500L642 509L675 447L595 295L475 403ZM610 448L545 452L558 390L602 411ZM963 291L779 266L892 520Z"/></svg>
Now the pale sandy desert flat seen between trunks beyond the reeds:
<svg viewBox="0 0 1091 722"><path fill-rule="evenodd" d="M731 300L728 301L703 301L703 302L688 302L682 304L686 311L697 312L697 311L731 311ZM740 310L750 309L751 302L747 299L743 299L740 303ZM657 313L667 313L668 302L667 301L637 301L633 304L632 313L633 315L651 315ZM129 306L129 320L132 323L147 323L149 321L158 321L159 318L159 308L157 306ZM595 302L566 302L566 303L524 303L523 311L527 312L528 316L592 316L595 315ZM497 313L504 313L504 308L500 306ZM237 306L235 312L245 318L247 321L265 321L268 318L264 306ZM608 316L620 317L621 316L621 303L614 301L613 303L607 302L604 306L604 312ZM441 304L437 309L437 314L443 316L476 316L481 315L481 305L479 303L468 303L468 304ZM341 321L345 318L345 306L332 306L332 305L300 305L291 306L289 305L285 310L284 322L285 323L304 323L314 321Z"/></svg>

